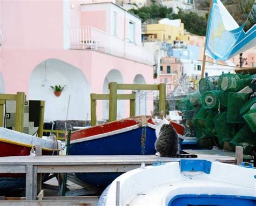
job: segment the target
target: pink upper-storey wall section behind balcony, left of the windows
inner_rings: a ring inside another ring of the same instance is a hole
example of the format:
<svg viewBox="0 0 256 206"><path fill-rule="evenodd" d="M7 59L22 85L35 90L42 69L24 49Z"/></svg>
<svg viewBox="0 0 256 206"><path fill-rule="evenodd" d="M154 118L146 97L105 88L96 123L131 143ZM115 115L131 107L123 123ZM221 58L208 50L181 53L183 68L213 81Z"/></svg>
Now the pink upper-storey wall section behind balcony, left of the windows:
<svg viewBox="0 0 256 206"><path fill-rule="evenodd" d="M106 11L81 12L81 25L106 31Z"/></svg>

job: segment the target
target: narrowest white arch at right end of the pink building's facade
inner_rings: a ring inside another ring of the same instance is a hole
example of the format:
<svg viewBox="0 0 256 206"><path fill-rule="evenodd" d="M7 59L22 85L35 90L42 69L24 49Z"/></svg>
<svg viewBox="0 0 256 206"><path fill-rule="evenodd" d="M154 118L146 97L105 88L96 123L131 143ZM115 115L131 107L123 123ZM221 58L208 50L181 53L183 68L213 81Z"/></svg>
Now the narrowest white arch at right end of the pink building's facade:
<svg viewBox="0 0 256 206"><path fill-rule="evenodd" d="M145 78L142 74L137 74L134 77L133 84L146 84ZM147 92L136 91L136 115L147 114Z"/></svg>

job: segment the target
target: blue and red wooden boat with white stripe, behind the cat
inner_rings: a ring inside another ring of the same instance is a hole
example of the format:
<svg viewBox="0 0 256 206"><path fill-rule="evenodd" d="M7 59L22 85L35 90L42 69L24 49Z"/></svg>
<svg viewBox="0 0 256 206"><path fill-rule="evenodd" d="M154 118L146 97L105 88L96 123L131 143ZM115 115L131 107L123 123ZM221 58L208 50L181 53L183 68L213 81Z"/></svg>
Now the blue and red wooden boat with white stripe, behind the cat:
<svg viewBox="0 0 256 206"><path fill-rule="evenodd" d="M184 127L172 122L180 135ZM70 155L152 155L156 126L150 116L134 116L71 133ZM77 173L87 183L104 189L122 173Z"/></svg>

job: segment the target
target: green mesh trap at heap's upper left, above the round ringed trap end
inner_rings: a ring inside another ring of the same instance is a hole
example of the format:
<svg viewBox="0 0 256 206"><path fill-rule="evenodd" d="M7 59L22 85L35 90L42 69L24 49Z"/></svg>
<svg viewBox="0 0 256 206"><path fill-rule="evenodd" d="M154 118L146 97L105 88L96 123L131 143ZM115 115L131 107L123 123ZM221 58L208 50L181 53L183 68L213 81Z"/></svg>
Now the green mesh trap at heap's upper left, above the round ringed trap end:
<svg viewBox="0 0 256 206"><path fill-rule="evenodd" d="M200 94L204 94L206 91L218 89L219 76L205 77L199 81Z"/></svg>

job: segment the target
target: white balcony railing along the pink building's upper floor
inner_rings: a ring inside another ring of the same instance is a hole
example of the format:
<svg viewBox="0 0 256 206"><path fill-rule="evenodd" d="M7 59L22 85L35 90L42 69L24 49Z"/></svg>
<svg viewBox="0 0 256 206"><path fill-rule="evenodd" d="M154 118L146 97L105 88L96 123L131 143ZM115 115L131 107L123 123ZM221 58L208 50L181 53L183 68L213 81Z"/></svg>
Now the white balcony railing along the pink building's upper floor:
<svg viewBox="0 0 256 206"><path fill-rule="evenodd" d="M89 26L70 29L70 49L91 49L147 65L154 65L154 57L150 51L127 42L127 39L111 36Z"/></svg>

